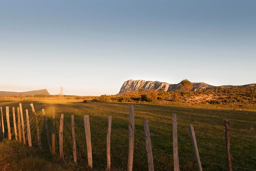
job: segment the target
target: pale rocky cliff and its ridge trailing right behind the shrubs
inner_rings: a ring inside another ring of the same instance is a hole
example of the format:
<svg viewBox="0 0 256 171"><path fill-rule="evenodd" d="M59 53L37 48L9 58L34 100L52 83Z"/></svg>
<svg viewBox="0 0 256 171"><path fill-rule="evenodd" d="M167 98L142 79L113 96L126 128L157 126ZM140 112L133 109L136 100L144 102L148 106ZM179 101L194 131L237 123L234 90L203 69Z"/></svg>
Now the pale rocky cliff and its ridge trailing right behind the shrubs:
<svg viewBox="0 0 256 171"><path fill-rule="evenodd" d="M179 89L179 84L168 84L165 82L158 81L145 81L145 80L128 80L124 82L122 85L119 94L139 91L139 89L143 88L145 91L150 91L151 89L160 90L164 89L164 91L175 91ZM222 88L237 88L237 87L256 87L256 84L247 84L247 85L222 85L222 86L214 86L209 85L203 82L200 83L192 83L192 91L202 90L202 89L215 89L218 87Z"/></svg>

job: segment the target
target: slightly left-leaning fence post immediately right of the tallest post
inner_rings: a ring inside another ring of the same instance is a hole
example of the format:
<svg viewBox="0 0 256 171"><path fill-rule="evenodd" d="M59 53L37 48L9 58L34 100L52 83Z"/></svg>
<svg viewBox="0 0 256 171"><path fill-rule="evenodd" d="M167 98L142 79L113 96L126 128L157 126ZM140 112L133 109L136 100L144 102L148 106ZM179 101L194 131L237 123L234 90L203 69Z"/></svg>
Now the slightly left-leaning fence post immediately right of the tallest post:
<svg viewBox="0 0 256 171"><path fill-rule="evenodd" d="M153 162L153 154L152 154L148 120L144 120L143 123L144 123L144 132L145 132L145 141L146 141L146 151L148 156L148 171L154 171L154 162Z"/></svg>

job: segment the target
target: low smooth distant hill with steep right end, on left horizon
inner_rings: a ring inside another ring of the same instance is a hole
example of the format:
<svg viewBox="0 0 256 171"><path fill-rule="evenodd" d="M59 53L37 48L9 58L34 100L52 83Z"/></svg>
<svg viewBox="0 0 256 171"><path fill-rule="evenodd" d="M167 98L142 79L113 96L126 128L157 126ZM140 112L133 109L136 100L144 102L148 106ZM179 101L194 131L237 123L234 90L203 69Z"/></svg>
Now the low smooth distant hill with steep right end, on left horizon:
<svg viewBox="0 0 256 171"><path fill-rule="evenodd" d="M14 91L0 91L0 96L26 96L26 95L49 95L47 89L25 91L25 92L14 92Z"/></svg>

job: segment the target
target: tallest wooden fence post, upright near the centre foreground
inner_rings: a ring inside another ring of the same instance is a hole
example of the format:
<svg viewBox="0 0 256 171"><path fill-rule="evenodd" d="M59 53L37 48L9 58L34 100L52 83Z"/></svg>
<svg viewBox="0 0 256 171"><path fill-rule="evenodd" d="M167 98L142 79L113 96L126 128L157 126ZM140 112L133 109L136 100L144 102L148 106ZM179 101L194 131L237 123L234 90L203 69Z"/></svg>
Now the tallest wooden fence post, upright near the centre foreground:
<svg viewBox="0 0 256 171"><path fill-rule="evenodd" d="M134 152L134 107L129 106L129 155L128 155L128 171L132 171L133 152Z"/></svg>

